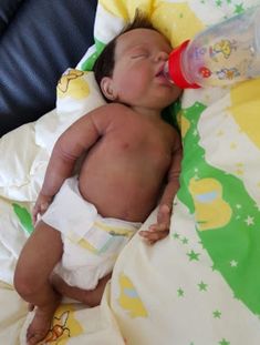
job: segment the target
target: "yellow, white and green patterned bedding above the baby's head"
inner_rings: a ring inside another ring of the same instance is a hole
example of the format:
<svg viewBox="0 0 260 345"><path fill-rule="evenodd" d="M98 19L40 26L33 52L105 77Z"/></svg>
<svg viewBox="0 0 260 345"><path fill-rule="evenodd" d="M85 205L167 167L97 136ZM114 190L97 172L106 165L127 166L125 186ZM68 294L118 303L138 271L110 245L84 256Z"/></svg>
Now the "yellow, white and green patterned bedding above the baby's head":
<svg viewBox="0 0 260 345"><path fill-rule="evenodd" d="M100 0L94 27L95 44L87 50L77 69L92 70L105 44L133 20L136 9L147 14L155 28L176 47L208 26L240 14L259 3L259 0Z"/></svg>

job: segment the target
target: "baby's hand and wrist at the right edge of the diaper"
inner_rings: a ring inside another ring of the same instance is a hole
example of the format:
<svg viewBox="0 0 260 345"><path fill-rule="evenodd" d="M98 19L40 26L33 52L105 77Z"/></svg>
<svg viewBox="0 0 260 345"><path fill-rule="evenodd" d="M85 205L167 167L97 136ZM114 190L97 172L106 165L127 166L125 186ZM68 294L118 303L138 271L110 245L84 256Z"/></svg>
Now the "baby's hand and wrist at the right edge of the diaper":
<svg viewBox="0 0 260 345"><path fill-rule="evenodd" d="M148 244L165 239L169 233L170 209L163 204L159 206L157 214L157 223L149 226L147 231L141 231L139 235L144 237Z"/></svg>

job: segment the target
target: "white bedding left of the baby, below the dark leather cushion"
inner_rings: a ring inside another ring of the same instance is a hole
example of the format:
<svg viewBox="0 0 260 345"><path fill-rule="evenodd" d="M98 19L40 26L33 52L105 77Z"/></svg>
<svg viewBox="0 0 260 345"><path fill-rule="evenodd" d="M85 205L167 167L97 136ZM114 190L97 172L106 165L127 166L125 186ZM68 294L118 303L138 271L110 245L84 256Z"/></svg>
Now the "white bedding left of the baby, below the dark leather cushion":
<svg viewBox="0 0 260 345"><path fill-rule="evenodd" d="M31 211L55 141L72 122L105 103L92 72L69 69L56 90L53 111L0 140L0 280L8 284L33 231Z"/></svg>

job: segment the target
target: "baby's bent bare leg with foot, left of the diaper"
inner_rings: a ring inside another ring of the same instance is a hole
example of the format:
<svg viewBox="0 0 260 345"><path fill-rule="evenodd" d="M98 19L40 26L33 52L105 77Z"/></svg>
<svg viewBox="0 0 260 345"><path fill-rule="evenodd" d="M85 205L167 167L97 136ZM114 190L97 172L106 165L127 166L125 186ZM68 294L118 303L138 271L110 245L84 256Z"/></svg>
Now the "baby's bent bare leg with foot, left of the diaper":
<svg viewBox="0 0 260 345"><path fill-rule="evenodd" d="M63 244L59 231L39 222L25 243L14 272L14 287L23 300L37 306L28 328L28 344L38 344L46 335L60 295L50 283L50 275L61 260Z"/></svg>

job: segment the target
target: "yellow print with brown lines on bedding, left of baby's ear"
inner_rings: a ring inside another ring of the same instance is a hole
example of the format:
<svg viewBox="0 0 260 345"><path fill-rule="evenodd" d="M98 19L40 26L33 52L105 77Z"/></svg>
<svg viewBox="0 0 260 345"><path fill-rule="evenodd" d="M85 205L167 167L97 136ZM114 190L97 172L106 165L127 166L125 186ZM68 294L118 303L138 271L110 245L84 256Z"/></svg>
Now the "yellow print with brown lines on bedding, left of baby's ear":
<svg viewBox="0 0 260 345"><path fill-rule="evenodd" d="M90 88L84 79L84 72L79 70L66 70L58 82L58 98L71 97L84 99L90 93Z"/></svg>

